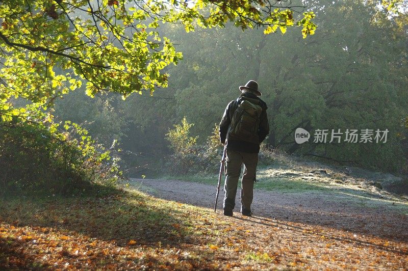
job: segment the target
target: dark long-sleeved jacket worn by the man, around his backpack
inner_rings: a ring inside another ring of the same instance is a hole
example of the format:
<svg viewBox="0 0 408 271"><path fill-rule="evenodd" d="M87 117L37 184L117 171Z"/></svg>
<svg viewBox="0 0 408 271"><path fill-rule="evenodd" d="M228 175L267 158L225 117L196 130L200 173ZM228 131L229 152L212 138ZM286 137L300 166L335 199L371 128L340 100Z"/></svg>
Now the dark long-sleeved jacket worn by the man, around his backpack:
<svg viewBox="0 0 408 271"><path fill-rule="evenodd" d="M242 152L248 152L248 153L258 153L259 152L259 145L265 140L266 136L269 133L269 122L268 122L268 117L266 115L266 110L268 109L268 106L266 103L258 98L258 96L252 94L252 93L243 93L240 95L240 97L247 97L247 98L252 98L252 99L257 99L261 101L261 107L262 107L262 113L260 116L260 125L259 125L259 130L258 130L258 136L259 136L259 143L251 143L251 142L246 142L246 141L241 141L241 140L227 140L227 146L226 148L228 150L234 150L234 151L242 151ZM230 127L231 124L231 119L232 116L234 115L234 111L237 108L237 100L233 100L228 105L226 106L224 115L222 116L222 120L220 122L220 141L224 145L225 144L225 139L227 137L227 132L228 128Z"/></svg>

